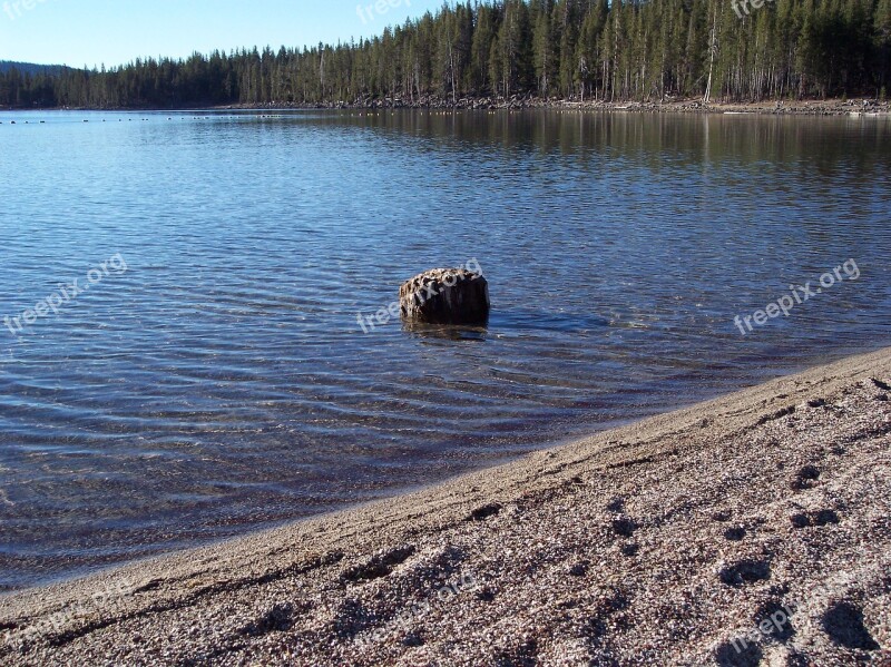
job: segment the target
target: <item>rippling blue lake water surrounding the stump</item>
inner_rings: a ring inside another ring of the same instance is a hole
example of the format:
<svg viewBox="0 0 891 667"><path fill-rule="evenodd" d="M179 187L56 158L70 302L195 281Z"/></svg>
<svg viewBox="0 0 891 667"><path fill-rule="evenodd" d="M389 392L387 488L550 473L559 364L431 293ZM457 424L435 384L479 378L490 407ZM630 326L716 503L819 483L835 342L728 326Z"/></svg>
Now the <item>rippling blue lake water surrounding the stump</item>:
<svg viewBox="0 0 891 667"><path fill-rule="evenodd" d="M0 589L891 344L888 118L0 121ZM487 328L363 333L472 258Z"/></svg>

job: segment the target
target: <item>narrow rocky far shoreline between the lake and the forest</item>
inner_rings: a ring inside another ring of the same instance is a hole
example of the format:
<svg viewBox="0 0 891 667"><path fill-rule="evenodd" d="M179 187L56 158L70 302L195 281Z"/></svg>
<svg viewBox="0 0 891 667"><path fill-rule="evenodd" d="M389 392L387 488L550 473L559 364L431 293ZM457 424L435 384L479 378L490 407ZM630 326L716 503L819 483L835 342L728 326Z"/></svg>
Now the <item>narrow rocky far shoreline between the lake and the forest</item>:
<svg viewBox="0 0 891 667"><path fill-rule="evenodd" d="M879 116L891 114L891 102L877 101L870 98L826 99L826 100L765 100L752 102L724 102L713 101L704 104L701 99L676 99L667 101L600 101L600 100L562 100L540 99L528 96L511 98L464 98L451 101L441 98L423 98L421 100L403 99L375 99L358 100L354 102L325 102L325 104L280 104L267 105L187 105L174 108L47 108L47 109L9 109L0 111L109 111L109 112L138 112L159 111L176 112L189 110L380 110L380 109L417 109L417 110L522 110L522 109L578 109L593 111L624 111L638 114L762 114L772 116Z"/></svg>

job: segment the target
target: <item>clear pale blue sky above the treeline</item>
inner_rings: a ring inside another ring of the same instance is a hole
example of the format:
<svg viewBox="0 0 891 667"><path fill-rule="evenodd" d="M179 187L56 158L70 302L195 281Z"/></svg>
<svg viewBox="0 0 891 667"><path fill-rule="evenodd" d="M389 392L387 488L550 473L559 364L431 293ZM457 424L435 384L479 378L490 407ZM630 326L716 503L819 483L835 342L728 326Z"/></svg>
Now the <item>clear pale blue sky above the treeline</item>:
<svg viewBox="0 0 891 667"><path fill-rule="evenodd" d="M371 37L442 0L0 0L0 60L89 67ZM371 12L358 7L371 6Z"/></svg>

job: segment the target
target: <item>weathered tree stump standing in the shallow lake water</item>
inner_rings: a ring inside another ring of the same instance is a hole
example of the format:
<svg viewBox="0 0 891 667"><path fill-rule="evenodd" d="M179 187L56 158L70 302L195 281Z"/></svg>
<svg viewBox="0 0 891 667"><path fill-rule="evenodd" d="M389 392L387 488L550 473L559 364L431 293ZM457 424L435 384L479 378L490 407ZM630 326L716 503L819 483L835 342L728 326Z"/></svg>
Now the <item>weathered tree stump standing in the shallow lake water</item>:
<svg viewBox="0 0 891 667"><path fill-rule="evenodd" d="M402 317L428 324L486 324L489 284L464 268L434 268L407 281L399 290Z"/></svg>

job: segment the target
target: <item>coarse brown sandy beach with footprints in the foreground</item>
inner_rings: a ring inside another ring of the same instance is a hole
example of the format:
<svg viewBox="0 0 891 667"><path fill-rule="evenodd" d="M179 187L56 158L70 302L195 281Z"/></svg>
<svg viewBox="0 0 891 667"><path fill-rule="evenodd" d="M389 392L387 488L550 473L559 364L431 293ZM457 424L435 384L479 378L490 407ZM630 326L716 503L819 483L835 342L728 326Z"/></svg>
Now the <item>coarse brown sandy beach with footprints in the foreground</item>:
<svg viewBox="0 0 891 667"><path fill-rule="evenodd" d="M891 349L8 596L0 664L891 665L889 383Z"/></svg>

